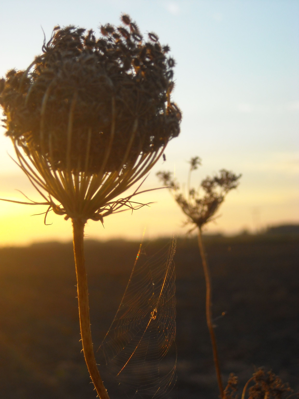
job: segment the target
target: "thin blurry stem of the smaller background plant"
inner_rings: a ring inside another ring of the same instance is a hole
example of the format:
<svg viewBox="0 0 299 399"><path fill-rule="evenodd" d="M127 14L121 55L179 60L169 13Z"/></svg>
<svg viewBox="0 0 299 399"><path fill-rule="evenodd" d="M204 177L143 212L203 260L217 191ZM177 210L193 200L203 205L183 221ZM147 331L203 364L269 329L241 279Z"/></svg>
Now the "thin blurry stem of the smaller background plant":
<svg viewBox="0 0 299 399"><path fill-rule="evenodd" d="M218 350L217 350L216 337L214 334L214 327L213 327L213 322L212 322L212 310L211 310L211 291L212 291L212 289L211 289L210 273L209 273L209 267L208 267L208 263L207 263L207 259L206 259L206 255L205 255L205 250L203 247L203 240L201 237L201 228L200 227L199 227L199 232L198 232L198 246L199 246L199 252L201 254L201 260L203 263L203 271L204 271L205 282L206 282L207 325L209 328L210 339L212 342L214 365L215 365L215 371L216 371L216 376L217 376L220 397L223 398L224 394L223 394L223 385L222 385L220 365L219 365L219 359L218 359Z"/></svg>

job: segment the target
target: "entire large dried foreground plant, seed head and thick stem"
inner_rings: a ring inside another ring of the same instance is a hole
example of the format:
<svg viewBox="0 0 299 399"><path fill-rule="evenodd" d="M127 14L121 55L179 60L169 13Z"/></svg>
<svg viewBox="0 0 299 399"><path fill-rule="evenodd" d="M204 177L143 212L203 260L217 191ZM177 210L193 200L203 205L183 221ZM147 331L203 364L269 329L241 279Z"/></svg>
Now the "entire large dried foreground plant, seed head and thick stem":
<svg viewBox="0 0 299 399"><path fill-rule="evenodd" d="M39 204L73 222L83 350L105 399L90 334L85 223L143 205L132 201L137 190L119 197L149 172L181 120L170 99L175 61L169 47L153 33L144 41L128 15L121 20L118 28L101 26L100 38L57 26L26 71L13 69L0 80L6 135L44 199Z"/></svg>

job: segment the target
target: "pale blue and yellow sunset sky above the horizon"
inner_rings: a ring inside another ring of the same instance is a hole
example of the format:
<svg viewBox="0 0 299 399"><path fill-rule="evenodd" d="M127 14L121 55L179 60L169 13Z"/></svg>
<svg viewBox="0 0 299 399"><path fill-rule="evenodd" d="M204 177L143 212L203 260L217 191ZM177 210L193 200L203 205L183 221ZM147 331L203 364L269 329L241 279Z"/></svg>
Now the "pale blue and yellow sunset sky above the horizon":
<svg viewBox="0 0 299 399"><path fill-rule="evenodd" d="M221 168L242 173L209 232L257 231L299 223L299 2L297 0L91 1L0 0L0 77L26 69L57 24L85 28L119 23L122 12L143 33L156 32L177 61L174 99L183 111L181 134L144 183L159 187L158 170L187 180L191 156L203 160L197 185ZM43 30L42 30L43 29ZM0 128L0 197L39 200L10 158L14 150ZM143 194L153 202L88 223L93 239L140 239L183 234L184 216L167 190ZM71 239L71 223L40 206L0 203L0 246Z"/></svg>

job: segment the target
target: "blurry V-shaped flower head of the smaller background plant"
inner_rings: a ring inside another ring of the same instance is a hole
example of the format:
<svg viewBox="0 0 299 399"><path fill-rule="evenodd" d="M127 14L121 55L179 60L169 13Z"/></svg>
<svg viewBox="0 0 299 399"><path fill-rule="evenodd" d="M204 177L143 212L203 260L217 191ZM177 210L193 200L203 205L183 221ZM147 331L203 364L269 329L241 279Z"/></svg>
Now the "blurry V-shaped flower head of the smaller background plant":
<svg viewBox="0 0 299 399"><path fill-rule="evenodd" d="M157 176L165 186L173 190L175 201L188 217L187 223L194 223L195 227L201 229L203 225L213 220L226 194L238 186L241 175L221 169L218 175L212 178L207 176L201 182L199 190L196 190L195 188L190 188L191 172L201 165L201 159L197 156L191 158L189 163L187 196L181 192L180 186L171 172L158 172Z"/></svg>

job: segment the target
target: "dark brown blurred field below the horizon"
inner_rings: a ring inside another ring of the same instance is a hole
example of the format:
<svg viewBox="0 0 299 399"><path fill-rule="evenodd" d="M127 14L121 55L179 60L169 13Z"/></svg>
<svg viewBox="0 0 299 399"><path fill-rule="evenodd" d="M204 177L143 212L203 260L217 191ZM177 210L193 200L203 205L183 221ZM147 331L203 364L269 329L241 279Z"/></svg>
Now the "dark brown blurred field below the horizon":
<svg viewBox="0 0 299 399"><path fill-rule="evenodd" d="M161 245L153 242L149 251ZM299 236L205 237L222 371L254 367L299 388ZM94 347L113 320L139 243L86 242ZM197 241L175 253L177 383L166 398L217 398ZM81 353L72 245L0 249L0 398L91 399ZM112 396L118 399L120 396ZM126 397L126 396L124 396Z"/></svg>

